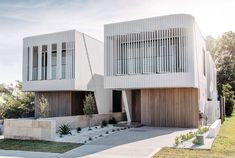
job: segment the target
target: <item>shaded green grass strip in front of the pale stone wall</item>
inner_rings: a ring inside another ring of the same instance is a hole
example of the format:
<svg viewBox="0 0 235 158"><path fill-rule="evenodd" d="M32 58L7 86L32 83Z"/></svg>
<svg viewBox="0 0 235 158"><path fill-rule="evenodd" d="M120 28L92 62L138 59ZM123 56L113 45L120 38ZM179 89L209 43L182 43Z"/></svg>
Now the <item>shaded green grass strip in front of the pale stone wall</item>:
<svg viewBox="0 0 235 158"><path fill-rule="evenodd" d="M4 150L64 153L81 145L82 144L77 143L61 143L39 140L0 139L0 149Z"/></svg>

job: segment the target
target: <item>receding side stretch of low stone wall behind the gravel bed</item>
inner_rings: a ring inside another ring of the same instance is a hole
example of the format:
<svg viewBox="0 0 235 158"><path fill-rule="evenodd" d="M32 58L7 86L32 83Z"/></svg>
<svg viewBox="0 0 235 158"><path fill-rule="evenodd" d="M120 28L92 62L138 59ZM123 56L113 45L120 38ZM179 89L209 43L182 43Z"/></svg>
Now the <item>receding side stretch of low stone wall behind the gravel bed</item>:
<svg viewBox="0 0 235 158"><path fill-rule="evenodd" d="M118 122L123 121L123 112L110 113L110 114L94 114L90 123L91 126L98 126L101 124L102 120L108 122L112 117L114 117ZM64 116L64 117L50 117L43 118L39 120L55 120L56 122L56 130L59 129L59 126L62 124L69 124L72 129L76 129L77 127L87 127L88 126L88 117L85 115L77 115L77 116Z"/></svg>

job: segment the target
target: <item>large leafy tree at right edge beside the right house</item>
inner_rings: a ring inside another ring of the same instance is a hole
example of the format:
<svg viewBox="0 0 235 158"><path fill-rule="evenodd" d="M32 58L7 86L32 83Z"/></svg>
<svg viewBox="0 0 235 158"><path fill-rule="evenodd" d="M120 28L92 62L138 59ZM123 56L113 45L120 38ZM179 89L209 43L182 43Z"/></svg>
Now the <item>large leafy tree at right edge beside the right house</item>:
<svg viewBox="0 0 235 158"><path fill-rule="evenodd" d="M208 36L206 46L215 60L218 93L222 95L223 84L227 83L235 91L235 33L225 32L218 39Z"/></svg>

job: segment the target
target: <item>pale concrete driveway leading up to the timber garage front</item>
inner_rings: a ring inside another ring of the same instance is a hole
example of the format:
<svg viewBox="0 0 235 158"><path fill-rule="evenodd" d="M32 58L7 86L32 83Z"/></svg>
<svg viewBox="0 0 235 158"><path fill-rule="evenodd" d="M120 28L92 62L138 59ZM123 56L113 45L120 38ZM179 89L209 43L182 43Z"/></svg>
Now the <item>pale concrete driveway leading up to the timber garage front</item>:
<svg viewBox="0 0 235 158"><path fill-rule="evenodd" d="M193 129L140 127L120 131L56 157L147 158L162 147L174 145L175 137Z"/></svg>

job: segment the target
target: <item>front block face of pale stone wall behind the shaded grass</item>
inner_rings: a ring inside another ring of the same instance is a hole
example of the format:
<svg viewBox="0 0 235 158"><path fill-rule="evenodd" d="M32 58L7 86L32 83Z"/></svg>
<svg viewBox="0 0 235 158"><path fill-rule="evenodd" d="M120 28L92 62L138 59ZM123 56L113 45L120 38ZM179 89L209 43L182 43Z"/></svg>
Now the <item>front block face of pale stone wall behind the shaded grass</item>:
<svg viewBox="0 0 235 158"><path fill-rule="evenodd" d="M55 134L56 122L54 120L4 120L4 138L54 140Z"/></svg>

